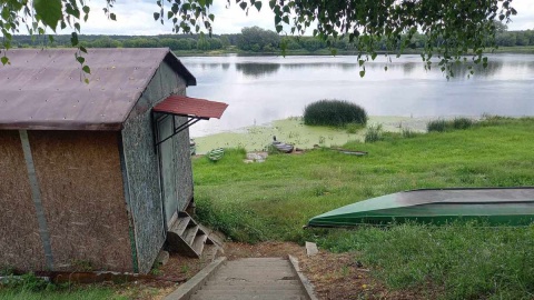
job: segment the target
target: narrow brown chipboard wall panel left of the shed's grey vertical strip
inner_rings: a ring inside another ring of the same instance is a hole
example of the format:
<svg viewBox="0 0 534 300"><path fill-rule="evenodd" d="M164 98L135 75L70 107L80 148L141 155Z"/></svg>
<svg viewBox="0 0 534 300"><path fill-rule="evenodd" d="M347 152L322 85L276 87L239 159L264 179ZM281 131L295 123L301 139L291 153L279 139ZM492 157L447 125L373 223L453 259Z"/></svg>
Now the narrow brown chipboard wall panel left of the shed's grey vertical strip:
<svg viewBox="0 0 534 300"><path fill-rule="evenodd" d="M16 130L0 131L0 268L44 269L36 207Z"/></svg>

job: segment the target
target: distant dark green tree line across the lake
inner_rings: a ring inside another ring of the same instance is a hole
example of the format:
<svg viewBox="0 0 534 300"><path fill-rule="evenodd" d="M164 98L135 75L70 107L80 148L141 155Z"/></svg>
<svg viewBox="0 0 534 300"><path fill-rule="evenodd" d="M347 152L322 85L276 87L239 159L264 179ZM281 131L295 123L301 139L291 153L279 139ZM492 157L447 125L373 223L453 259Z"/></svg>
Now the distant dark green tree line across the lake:
<svg viewBox="0 0 534 300"><path fill-rule="evenodd" d="M86 48L158 48L169 47L175 51L211 51L225 50L229 47L248 52L277 52L281 47L287 50L305 50L315 52L322 49L355 50L356 43L348 40L333 40L325 42L314 37L285 37L271 30L259 27L244 28L241 33L234 34L165 34L165 36L79 36L81 44ZM423 47L426 36L415 34L408 43L409 48ZM387 44L377 40L379 49L386 50ZM534 30L507 31L506 26L497 26L497 46L534 46ZM70 47L70 36L48 37L13 37L13 47Z"/></svg>

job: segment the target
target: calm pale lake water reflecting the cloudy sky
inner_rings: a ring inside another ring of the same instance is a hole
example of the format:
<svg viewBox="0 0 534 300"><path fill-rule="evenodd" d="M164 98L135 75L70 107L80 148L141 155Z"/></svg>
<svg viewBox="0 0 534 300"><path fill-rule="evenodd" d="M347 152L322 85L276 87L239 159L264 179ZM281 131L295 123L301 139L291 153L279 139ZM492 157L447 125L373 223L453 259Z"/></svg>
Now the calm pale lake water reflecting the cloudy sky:
<svg viewBox="0 0 534 300"><path fill-rule="evenodd" d="M534 116L534 56L490 56L490 66L471 79L458 68L446 80L435 66L425 71L419 56L366 62L356 57L191 57L181 58L197 78L188 96L229 104L220 120L190 128L192 137L301 116L306 104L342 99L369 116L451 117ZM387 66L388 70L384 71Z"/></svg>

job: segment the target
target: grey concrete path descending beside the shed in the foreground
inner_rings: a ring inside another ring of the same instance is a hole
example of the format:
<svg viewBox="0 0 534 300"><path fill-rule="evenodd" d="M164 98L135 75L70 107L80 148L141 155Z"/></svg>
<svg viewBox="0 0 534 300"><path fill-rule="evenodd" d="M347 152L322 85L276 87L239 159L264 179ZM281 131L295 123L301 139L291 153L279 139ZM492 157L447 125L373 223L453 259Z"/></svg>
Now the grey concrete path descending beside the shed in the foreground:
<svg viewBox="0 0 534 300"><path fill-rule="evenodd" d="M305 300L287 259L249 258L227 261L191 300Z"/></svg>

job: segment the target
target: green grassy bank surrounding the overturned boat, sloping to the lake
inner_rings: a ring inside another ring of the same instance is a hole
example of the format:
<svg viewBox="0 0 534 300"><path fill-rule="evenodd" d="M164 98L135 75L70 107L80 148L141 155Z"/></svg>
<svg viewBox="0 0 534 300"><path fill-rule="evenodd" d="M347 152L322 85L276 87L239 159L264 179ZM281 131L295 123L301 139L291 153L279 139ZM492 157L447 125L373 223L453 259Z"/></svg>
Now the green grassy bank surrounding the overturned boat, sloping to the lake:
<svg viewBox="0 0 534 300"><path fill-rule="evenodd" d="M243 151L228 151L217 164L194 161L197 212L237 241L315 240L333 251L357 251L390 289L444 286L446 299L532 299L532 227L301 226L332 209L402 190L534 186L533 131L532 118L487 117L465 130L343 146L368 151L365 157L319 149L245 164Z"/></svg>

